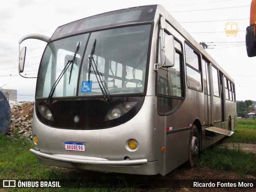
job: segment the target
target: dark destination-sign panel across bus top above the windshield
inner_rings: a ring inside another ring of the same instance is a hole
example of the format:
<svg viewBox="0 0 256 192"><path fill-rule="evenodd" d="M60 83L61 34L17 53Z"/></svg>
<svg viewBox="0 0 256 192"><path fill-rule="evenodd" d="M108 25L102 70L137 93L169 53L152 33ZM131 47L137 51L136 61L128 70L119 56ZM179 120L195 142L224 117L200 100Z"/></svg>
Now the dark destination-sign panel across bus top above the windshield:
<svg viewBox="0 0 256 192"><path fill-rule="evenodd" d="M124 24L154 22L157 5L140 6L106 12L59 26L50 41L74 34L101 30Z"/></svg>

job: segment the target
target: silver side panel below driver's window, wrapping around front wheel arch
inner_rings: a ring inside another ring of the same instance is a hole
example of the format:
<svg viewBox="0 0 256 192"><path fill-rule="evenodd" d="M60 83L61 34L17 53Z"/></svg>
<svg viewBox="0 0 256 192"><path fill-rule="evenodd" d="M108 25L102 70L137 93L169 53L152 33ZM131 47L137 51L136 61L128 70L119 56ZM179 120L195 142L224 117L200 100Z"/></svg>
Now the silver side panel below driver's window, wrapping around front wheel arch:
<svg viewBox="0 0 256 192"><path fill-rule="evenodd" d="M166 117L166 174L186 162L189 158L190 124L198 118L204 121L204 93L186 89L182 106Z"/></svg>

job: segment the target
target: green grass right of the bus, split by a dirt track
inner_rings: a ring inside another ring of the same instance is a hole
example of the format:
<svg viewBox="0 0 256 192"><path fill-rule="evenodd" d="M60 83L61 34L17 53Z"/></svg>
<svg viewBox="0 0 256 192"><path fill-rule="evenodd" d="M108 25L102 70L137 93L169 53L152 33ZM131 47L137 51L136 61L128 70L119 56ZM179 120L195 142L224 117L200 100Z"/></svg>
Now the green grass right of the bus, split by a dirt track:
<svg viewBox="0 0 256 192"><path fill-rule="evenodd" d="M235 133L229 138L224 138L224 142L256 144L255 120L238 119ZM240 175L256 176L255 159L256 154L242 151L239 145L230 149L227 145L221 147L215 144L200 154L198 164L212 169L233 171Z"/></svg>

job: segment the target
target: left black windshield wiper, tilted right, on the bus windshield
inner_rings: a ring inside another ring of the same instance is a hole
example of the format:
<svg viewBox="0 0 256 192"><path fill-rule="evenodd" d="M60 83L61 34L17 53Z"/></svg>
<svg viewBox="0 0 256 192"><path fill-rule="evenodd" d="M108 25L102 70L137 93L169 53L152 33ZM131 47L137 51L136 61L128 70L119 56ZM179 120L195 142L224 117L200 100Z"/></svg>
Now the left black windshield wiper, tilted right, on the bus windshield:
<svg viewBox="0 0 256 192"><path fill-rule="evenodd" d="M74 64L74 60L76 58L76 53L78 52L78 49L79 49L79 46L80 46L80 42L78 42L78 46L76 47L76 51L74 53L74 57L72 60L68 60L68 62L66 63L64 69L62 70L62 72L60 73L60 75L58 76L58 78L56 79L56 81L54 82L52 88L51 88L51 91L48 95L48 99L47 99L47 102L48 103L51 103L52 102L52 96L54 94L54 91L55 91L55 88L56 86L58 85L58 83L60 82L60 79L62 78L62 76L65 74L65 72L68 70L68 67L70 66L70 64ZM71 73L72 73L72 68L70 70L70 76L69 76L69 82L70 82L70 78L71 78Z"/></svg>

